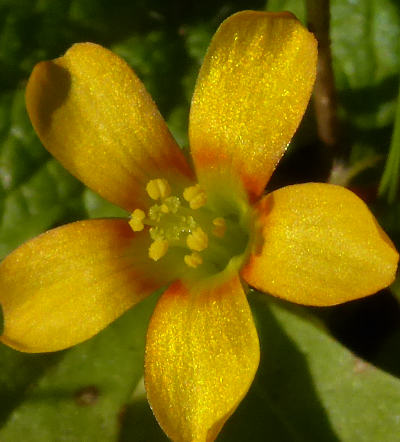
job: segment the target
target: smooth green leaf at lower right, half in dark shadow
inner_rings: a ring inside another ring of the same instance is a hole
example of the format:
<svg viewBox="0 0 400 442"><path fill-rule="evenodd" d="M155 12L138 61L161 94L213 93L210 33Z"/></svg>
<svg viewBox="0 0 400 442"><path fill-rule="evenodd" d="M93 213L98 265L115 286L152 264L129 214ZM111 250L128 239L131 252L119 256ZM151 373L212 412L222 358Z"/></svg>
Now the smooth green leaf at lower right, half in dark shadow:
<svg viewBox="0 0 400 442"><path fill-rule="evenodd" d="M398 440L400 380L346 350L305 309L250 299L261 364L221 441Z"/></svg>

